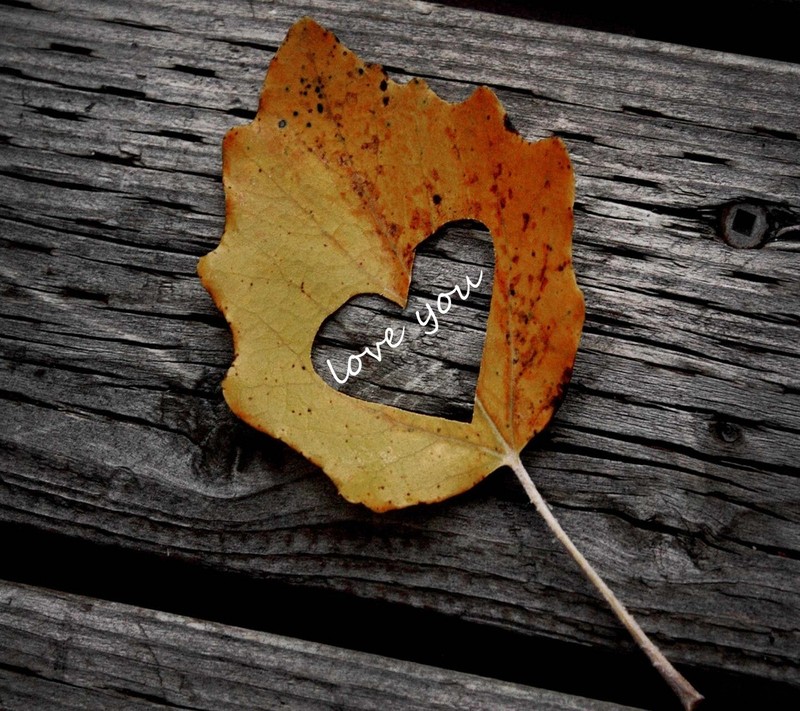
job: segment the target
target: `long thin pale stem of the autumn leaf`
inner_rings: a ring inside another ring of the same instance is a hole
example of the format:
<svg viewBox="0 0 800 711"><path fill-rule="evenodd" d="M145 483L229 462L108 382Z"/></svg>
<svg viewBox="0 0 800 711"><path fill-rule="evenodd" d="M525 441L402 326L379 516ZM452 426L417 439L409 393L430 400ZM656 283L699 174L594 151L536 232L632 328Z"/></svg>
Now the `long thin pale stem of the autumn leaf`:
<svg viewBox="0 0 800 711"><path fill-rule="evenodd" d="M614 593L611 591L611 588L606 585L605 581L603 581L595 569L592 568L589 561L583 557L583 553L581 553L575 547L575 544L570 540L564 529L561 528L561 524L558 522L556 517L553 516L549 506L545 503L545 500L542 498L542 495L539 493L539 490L533 483L530 474L528 474L527 470L523 466L519 455L516 453L509 454L507 464L517 475L517 478L520 480L525 492L528 494L531 503L541 514L542 518L545 520L555 537L567 549L569 554L578 564L578 567L583 571L584 575L586 575L586 577L589 578L592 584L597 588L597 590L603 596L603 599L614 611L614 614L617 616L619 621L622 622L622 624L627 628L628 632L631 633L631 636L636 641L636 644L638 644L641 650L648 656L653 666L658 670L658 673L661 674L667 684L669 684L670 688L678 695L678 698L680 698L684 709L686 709L686 711L692 711L692 709L695 709L703 700L703 697L683 677L683 675L672 666L669 660L661 653L661 650L656 647L653 641L644 633L642 628L639 627L639 623L636 622L636 620L633 618L633 615L631 615L631 613L625 609L625 606L619 601L617 596L614 595Z"/></svg>

